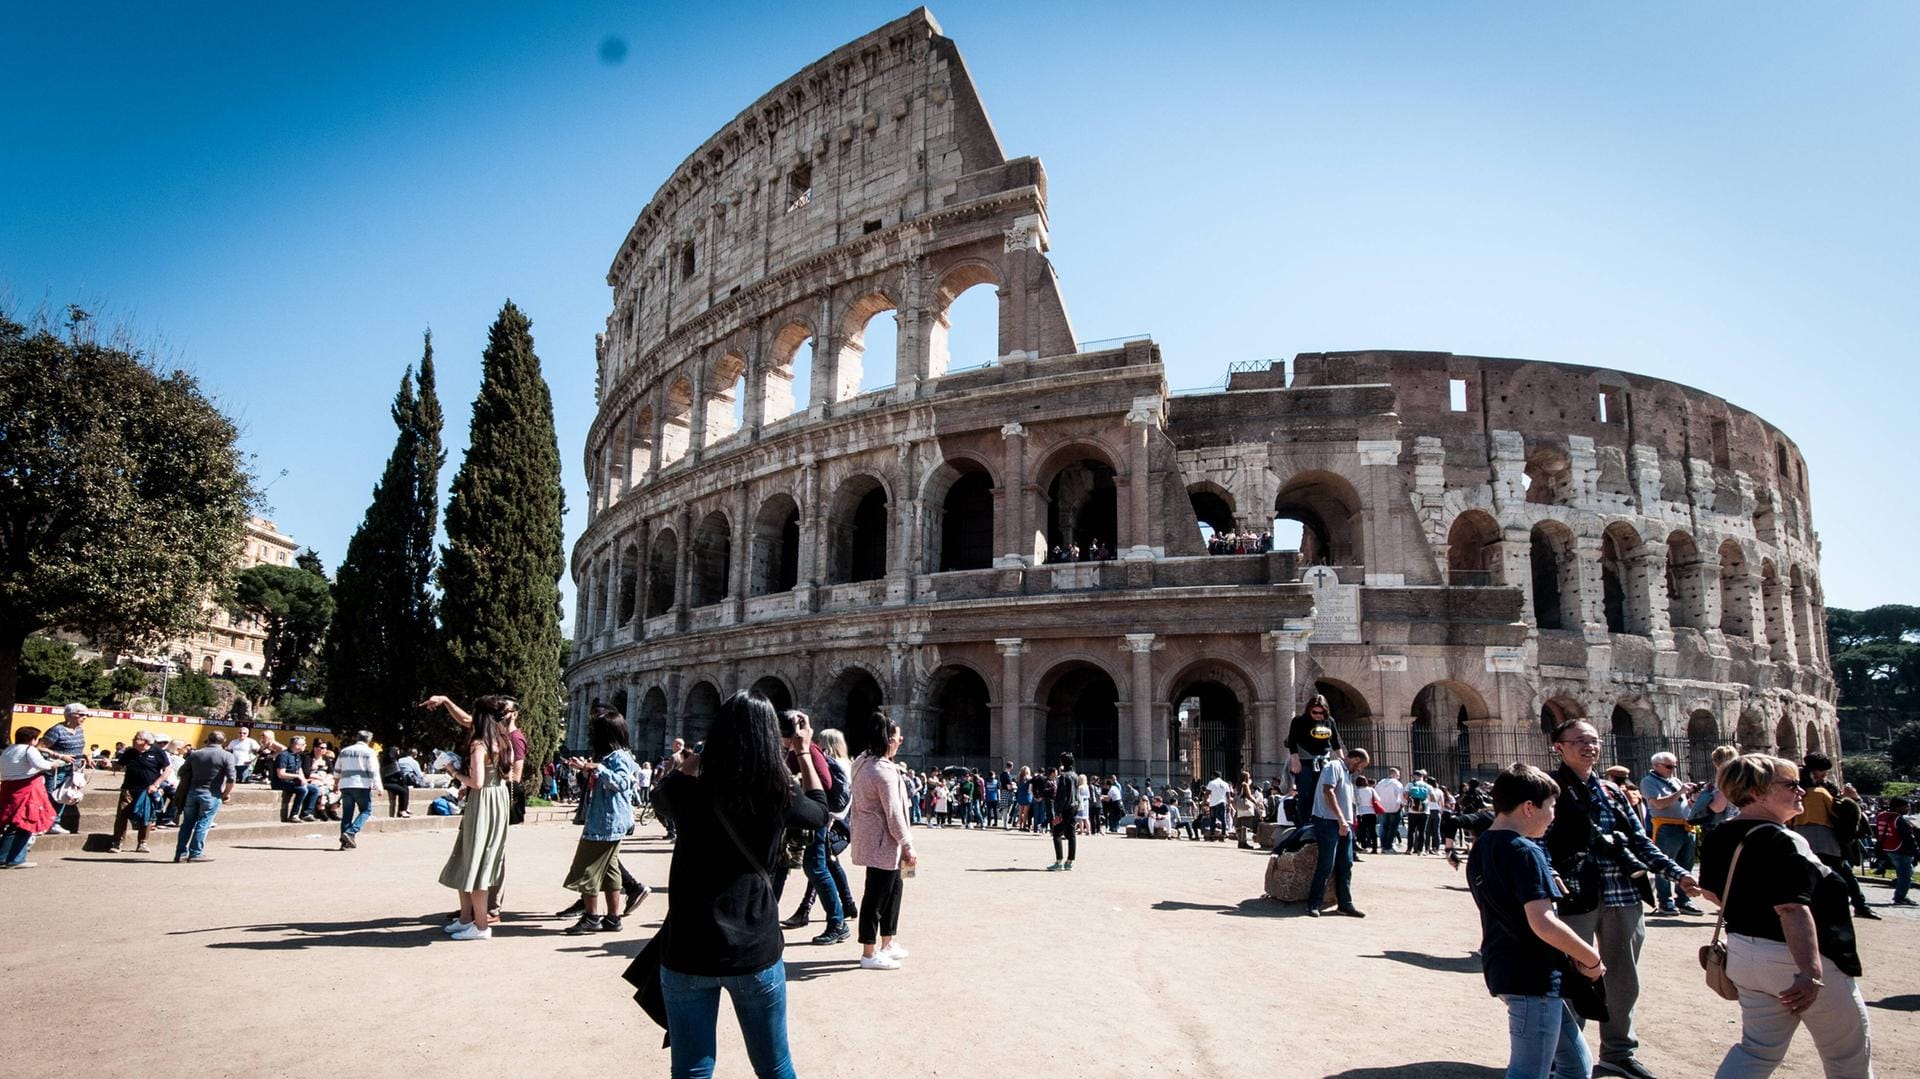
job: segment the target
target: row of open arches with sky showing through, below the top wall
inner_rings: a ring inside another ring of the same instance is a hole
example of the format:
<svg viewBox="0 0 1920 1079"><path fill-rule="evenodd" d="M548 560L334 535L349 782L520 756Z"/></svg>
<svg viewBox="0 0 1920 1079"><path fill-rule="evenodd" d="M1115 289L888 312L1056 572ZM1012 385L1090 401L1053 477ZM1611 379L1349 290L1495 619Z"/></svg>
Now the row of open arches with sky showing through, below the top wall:
<svg viewBox="0 0 1920 1079"><path fill-rule="evenodd" d="M716 348L714 355L693 357L668 371L637 403L624 405L605 424L588 467L591 511L618 503L657 470L745 430L812 405L885 390L902 371L914 378L939 378L950 365L956 323L983 338L985 326L998 328L1004 317L1000 275L977 259L962 261L939 278L924 328L920 319L914 326L902 324L895 292L876 286L833 319L783 315L764 348L732 342ZM891 319L876 321L881 315ZM829 324L831 334L822 336L820 324ZM995 348L985 361L998 357L996 346L996 330L993 346L973 342L973 348ZM924 363L920 349L925 349ZM883 363L870 361L870 351ZM762 359L755 363L755 355Z"/></svg>

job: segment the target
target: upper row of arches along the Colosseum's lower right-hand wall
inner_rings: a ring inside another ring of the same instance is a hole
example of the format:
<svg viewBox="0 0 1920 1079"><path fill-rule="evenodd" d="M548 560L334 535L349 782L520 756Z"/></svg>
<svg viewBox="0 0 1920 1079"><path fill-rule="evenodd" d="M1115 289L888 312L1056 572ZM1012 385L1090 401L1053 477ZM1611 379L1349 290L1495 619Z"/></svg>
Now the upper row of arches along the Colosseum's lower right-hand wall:
<svg viewBox="0 0 1920 1079"><path fill-rule="evenodd" d="M1582 572L1582 545L1572 528L1540 520L1526 540L1526 578L1501 580L1505 534L1492 515L1471 509L1448 528L1450 584L1511 584L1528 589L1534 624L1542 630L1576 630L1590 611L1597 576L1599 618L1611 634L1651 635L1665 612L1668 628L1720 630L1747 641L1764 639L1772 659L1803 666L1826 664L1826 605L1820 582L1799 564L1782 578L1772 559L1753 566L1736 540L1709 557L1684 530L1674 530L1655 549L1640 532L1615 520L1601 530L1597 574ZM1755 605L1759 618L1755 618Z"/></svg>

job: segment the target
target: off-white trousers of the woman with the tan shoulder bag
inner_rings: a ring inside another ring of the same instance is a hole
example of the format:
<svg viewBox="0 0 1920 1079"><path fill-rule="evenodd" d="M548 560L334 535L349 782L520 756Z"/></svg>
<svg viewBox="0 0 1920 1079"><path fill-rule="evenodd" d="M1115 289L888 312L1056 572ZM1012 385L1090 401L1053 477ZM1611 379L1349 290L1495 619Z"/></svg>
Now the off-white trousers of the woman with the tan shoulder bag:
<svg viewBox="0 0 1920 1079"><path fill-rule="evenodd" d="M1740 1044L1726 1050L1715 1079L1772 1075L1801 1023L1820 1050L1828 1079L1874 1079L1874 1046L1860 987L1832 962L1820 966L1826 989L1795 1016L1778 998L1799 971L1788 947L1741 933L1726 935L1726 975L1740 987Z"/></svg>

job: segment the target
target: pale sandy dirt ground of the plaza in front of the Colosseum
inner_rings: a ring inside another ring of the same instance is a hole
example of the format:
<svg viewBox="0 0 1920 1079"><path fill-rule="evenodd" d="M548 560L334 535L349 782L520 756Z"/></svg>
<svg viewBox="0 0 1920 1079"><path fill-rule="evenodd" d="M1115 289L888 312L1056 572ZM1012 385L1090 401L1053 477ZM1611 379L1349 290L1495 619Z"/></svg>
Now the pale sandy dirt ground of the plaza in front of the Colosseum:
<svg viewBox="0 0 1920 1079"><path fill-rule="evenodd" d="M643 833L626 864L664 885L670 847L655 826ZM346 852L330 829L234 847L215 831L205 866L48 852L0 874L8 1010L40 1016L35 1069L84 1075L486 1075L532 1062L664 1075L660 1031L620 971L668 897L620 935L561 935L551 912L570 902L559 881L576 835L515 829L509 922L490 943L436 927L451 908L436 883L451 829L369 835ZM1263 856L1231 845L1083 839L1075 870L1048 874L1044 837L924 829L918 843L904 970L858 970L852 943L806 945L818 920L787 935L801 1075L1440 1079L1505 1066L1473 902L1438 858L1367 858L1356 897L1369 918L1308 920L1260 899ZM1874 1056L1882 1077L1920 1075L1920 918L1884 912L1860 923ZM1711 1075L1738 1037L1736 1006L1701 985L1709 933L1703 918L1651 920L1638 1019L1642 1058L1665 1079ZM749 1073L726 1010L720 1027L718 1073ZM1780 1075L1818 1073L1801 1035Z"/></svg>

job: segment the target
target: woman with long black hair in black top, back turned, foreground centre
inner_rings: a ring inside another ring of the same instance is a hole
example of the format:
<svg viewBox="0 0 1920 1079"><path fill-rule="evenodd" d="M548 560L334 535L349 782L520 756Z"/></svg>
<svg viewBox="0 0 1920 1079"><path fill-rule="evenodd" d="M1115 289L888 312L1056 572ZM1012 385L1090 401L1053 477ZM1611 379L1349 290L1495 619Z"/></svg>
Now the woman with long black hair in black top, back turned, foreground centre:
<svg viewBox="0 0 1920 1079"><path fill-rule="evenodd" d="M774 707L735 693L714 716L703 753L653 789L678 827L668 868L670 925L660 958L674 1075L712 1075L720 991L733 996L755 1075L791 1077L787 971L768 866L787 827L824 827L826 791L812 753L787 772Z"/></svg>

